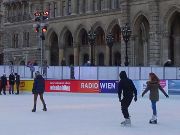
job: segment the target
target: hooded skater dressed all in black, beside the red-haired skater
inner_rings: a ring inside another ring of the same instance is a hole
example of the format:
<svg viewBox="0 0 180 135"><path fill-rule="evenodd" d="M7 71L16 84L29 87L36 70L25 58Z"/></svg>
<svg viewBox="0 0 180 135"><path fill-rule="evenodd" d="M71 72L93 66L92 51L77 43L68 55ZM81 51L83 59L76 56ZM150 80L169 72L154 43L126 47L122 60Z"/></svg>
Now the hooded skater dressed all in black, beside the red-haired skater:
<svg viewBox="0 0 180 135"><path fill-rule="evenodd" d="M137 101L137 90L134 86L134 83L131 79L129 79L126 75L125 71L121 71L119 74L120 82L118 85L118 96L119 101L121 102L121 110L124 115L125 121L123 121L122 125L130 125L131 120L128 112L128 107L131 104L131 101L134 97L134 101ZM123 99L121 100L121 95L123 92Z"/></svg>

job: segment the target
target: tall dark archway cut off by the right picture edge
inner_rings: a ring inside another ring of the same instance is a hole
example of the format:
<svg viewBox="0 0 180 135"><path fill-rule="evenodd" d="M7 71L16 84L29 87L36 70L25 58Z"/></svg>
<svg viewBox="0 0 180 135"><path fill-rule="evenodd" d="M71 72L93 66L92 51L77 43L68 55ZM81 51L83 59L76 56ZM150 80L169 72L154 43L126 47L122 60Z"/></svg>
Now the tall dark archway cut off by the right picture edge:
<svg viewBox="0 0 180 135"><path fill-rule="evenodd" d="M180 66L180 12L175 12L170 19L169 58L172 64Z"/></svg>

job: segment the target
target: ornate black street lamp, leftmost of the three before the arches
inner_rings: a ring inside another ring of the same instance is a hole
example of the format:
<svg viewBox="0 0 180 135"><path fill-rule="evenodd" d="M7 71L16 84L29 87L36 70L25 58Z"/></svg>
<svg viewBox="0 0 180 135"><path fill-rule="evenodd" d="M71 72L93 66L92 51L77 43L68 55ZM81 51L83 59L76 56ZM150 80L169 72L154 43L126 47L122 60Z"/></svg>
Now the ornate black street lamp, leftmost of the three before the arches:
<svg viewBox="0 0 180 135"><path fill-rule="evenodd" d="M95 46L95 40L96 40L96 33L91 29L88 32L88 41L91 46L91 66L94 65L94 59L93 59L93 47Z"/></svg>

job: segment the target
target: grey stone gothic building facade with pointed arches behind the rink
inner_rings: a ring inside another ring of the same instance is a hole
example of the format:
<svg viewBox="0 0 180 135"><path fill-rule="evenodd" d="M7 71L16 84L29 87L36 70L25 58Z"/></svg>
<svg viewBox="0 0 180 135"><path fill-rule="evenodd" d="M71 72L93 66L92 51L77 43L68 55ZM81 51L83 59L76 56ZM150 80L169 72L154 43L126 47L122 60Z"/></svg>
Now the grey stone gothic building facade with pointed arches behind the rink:
<svg viewBox="0 0 180 135"><path fill-rule="evenodd" d="M171 59L180 66L179 0L1 0L0 64L40 63L40 37L34 32L34 13L49 11L43 60L49 65L84 65L91 58L88 32L96 33L95 65L108 66L106 36L112 33L113 65L124 66L121 29L128 23L130 66L162 66Z"/></svg>

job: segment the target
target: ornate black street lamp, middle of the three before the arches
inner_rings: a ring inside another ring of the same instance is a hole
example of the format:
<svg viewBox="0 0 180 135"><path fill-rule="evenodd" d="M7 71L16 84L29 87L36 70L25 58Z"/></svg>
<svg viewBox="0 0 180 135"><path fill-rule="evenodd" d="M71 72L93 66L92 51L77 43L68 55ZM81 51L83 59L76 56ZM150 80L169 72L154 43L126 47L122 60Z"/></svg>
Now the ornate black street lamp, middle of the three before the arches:
<svg viewBox="0 0 180 135"><path fill-rule="evenodd" d="M109 66L112 66L112 46L114 44L114 37L111 33L107 35L106 42L109 47Z"/></svg>

